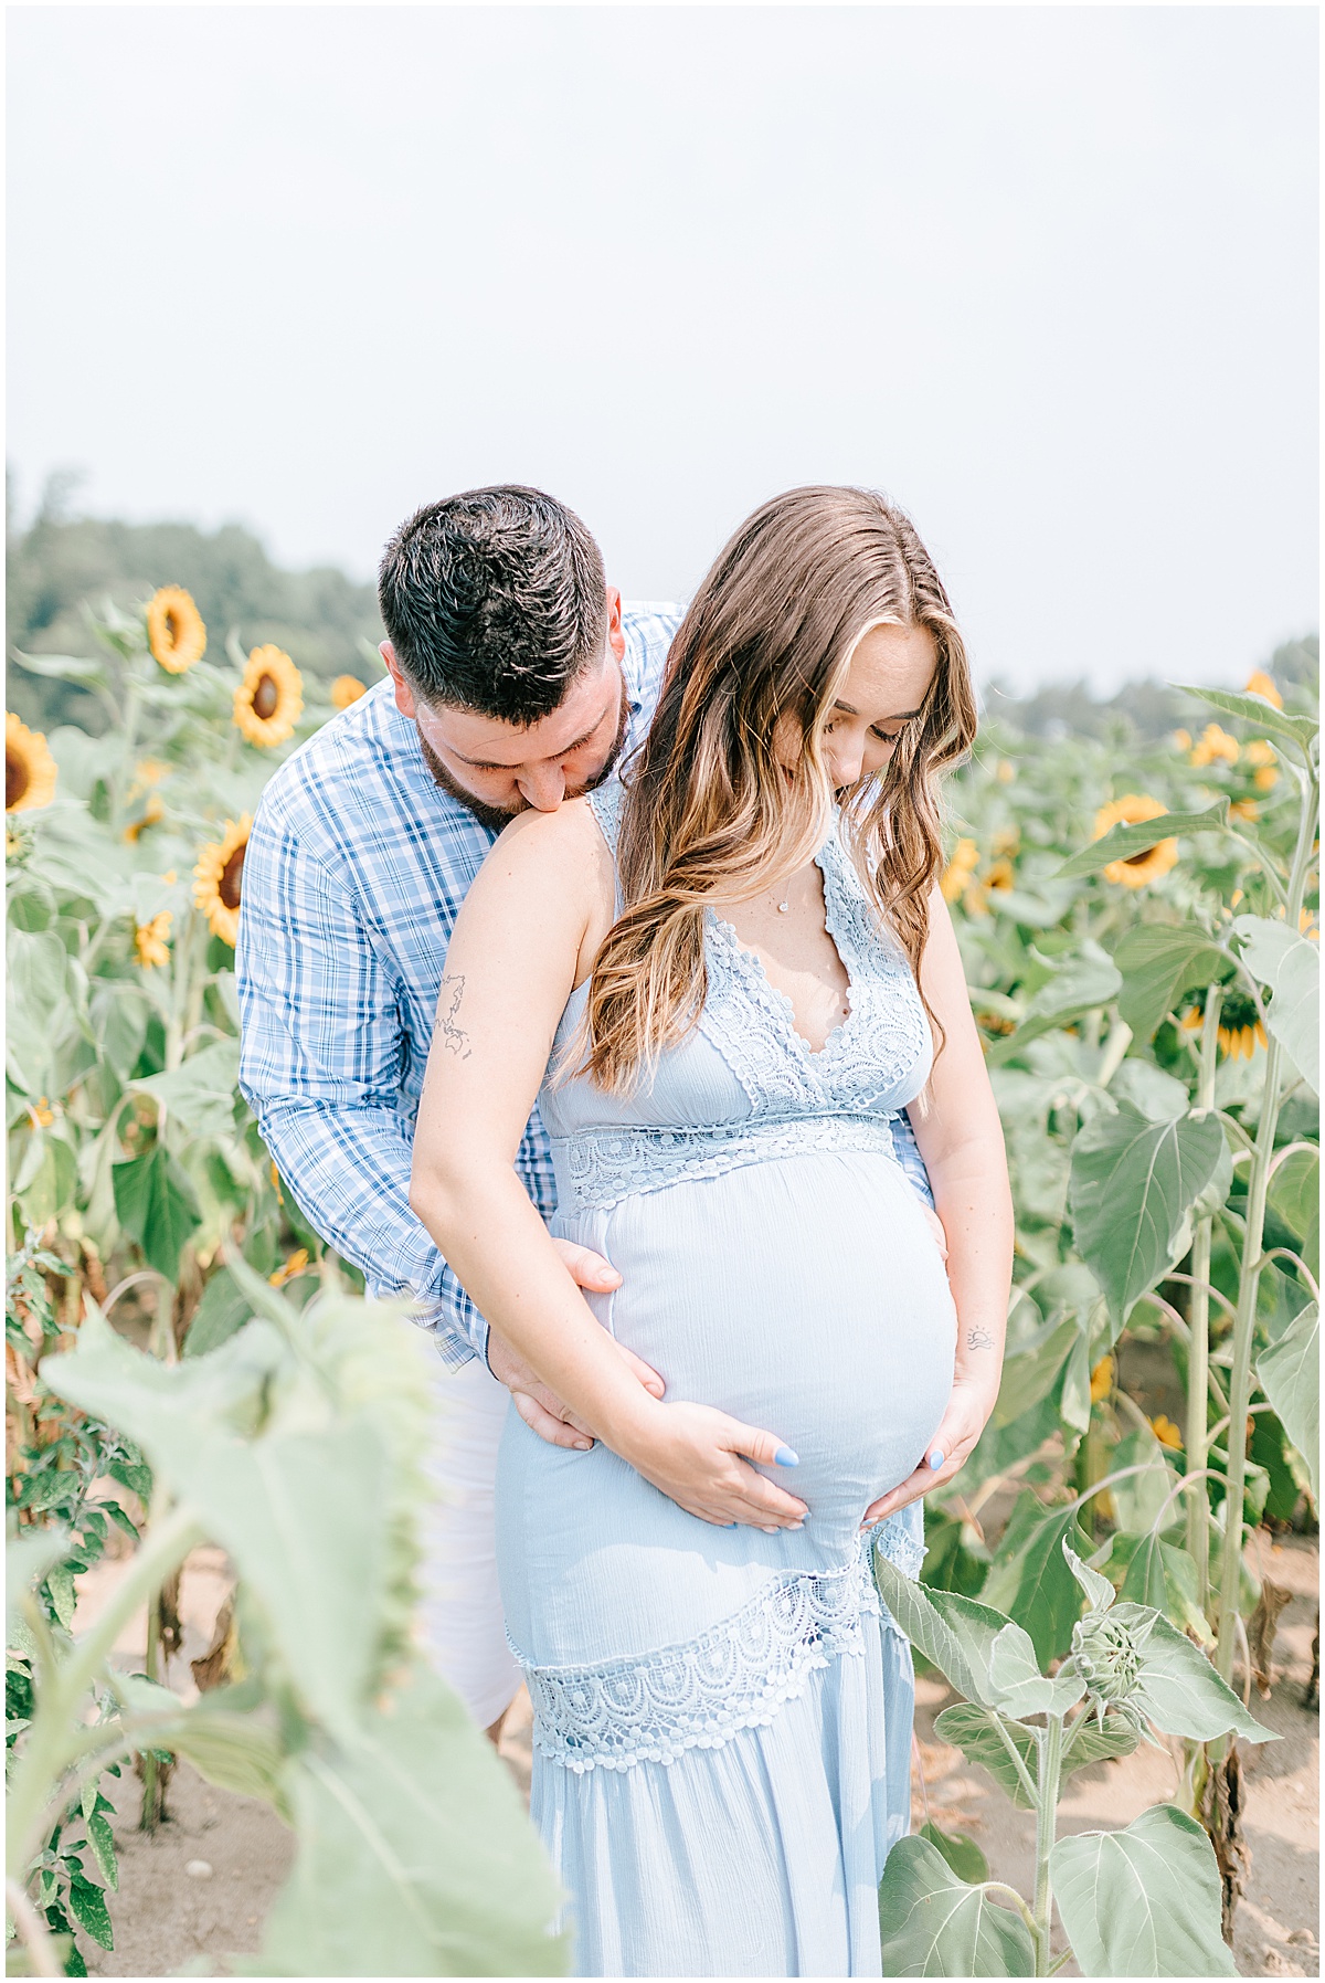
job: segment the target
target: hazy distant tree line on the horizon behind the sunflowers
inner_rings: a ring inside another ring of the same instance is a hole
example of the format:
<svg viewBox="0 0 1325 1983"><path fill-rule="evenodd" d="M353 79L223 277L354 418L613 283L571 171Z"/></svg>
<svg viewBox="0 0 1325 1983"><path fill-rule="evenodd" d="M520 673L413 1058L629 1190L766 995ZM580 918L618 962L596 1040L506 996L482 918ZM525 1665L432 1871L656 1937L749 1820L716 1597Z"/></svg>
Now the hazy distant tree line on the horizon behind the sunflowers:
<svg viewBox="0 0 1325 1983"><path fill-rule="evenodd" d="M73 488L73 478L51 478L32 524L24 529L12 520L8 524L10 656L16 648L28 654L87 652L83 601L109 597L129 609L158 585L184 585L198 601L214 646L224 646L234 633L246 652L273 641L311 674L358 674L364 682L380 674L376 644L382 623L372 585L357 585L331 565L281 571L240 524L202 531L192 524L117 524L69 516ZM1260 654L1248 656L1248 672L1268 666L1279 684L1315 684L1319 664L1315 635L1285 642L1268 662ZM1198 662L1184 666L1200 674ZM6 700L38 730L67 722L91 732L105 726L95 698L18 666L10 666ZM1133 734L1165 736L1186 722L1184 698L1163 682L1131 682L1109 698L1091 694L1085 682L1050 682L1032 696L1016 696L990 682L982 700L986 714L998 722L1050 740L1075 734L1113 738L1123 746Z"/></svg>

